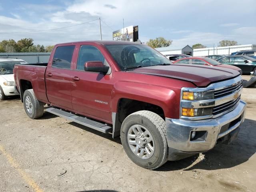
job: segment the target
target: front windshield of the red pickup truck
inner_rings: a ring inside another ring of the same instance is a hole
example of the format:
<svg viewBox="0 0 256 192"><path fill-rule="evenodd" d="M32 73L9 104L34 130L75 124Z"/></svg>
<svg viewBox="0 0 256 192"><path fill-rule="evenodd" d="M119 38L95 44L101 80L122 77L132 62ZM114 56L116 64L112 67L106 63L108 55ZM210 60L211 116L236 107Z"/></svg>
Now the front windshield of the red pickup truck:
<svg viewBox="0 0 256 192"><path fill-rule="evenodd" d="M105 46L121 70L172 64L165 56L145 45L112 44Z"/></svg>

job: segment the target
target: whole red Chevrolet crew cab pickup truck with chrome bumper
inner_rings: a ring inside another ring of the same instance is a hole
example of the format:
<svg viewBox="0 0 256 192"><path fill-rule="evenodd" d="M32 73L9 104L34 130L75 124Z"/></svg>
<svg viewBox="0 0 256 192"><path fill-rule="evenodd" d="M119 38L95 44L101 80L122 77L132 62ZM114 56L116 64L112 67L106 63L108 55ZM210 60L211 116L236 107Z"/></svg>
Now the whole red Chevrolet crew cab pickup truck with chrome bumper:
<svg viewBox="0 0 256 192"><path fill-rule="evenodd" d="M155 169L231 142L244 121L238 71L171 62L136 42L57 44L47 66L14 67L32 119L47 112L121 136L128 157Z"/></svg>

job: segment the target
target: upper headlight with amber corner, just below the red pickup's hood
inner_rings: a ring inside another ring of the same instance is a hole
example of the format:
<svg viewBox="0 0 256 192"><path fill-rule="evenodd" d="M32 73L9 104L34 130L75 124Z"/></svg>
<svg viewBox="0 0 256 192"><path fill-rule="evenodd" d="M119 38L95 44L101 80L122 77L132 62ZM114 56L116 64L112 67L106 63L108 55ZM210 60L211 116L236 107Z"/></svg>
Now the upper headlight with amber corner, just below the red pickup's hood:
<svg viewBox="0 0 256 192"><path fill-rule="evenodd" d="M213 91L204 92L182 92L182 99L184 100L208 100L213 99Z"/></svg>

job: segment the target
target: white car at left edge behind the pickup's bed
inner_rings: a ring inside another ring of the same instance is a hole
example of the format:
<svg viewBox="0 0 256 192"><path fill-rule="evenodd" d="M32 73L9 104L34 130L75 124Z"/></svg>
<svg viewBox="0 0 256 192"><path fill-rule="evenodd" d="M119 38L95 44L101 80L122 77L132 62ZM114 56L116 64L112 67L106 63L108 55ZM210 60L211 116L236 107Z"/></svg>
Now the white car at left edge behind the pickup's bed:
<svg viewBox="0 0 256 192"><path fill-rule="evenodd" d="M28 64L22 59L0 58L0 100L6 96L19 95L15 91L13 68L15 64Z"/></svg>

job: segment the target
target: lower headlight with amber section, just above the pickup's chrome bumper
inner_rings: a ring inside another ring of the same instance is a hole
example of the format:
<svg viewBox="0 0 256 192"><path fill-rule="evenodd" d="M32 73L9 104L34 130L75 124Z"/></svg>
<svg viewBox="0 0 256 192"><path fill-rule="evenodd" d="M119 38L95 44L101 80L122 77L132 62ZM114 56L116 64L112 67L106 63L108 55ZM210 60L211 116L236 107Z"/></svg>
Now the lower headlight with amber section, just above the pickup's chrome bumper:
<svg viewBox="0 0 256 192"><path fill-rule="evenodd" d="M212 114L212 107L206 108L182 108L182 116L198 117Z"/></svg>

